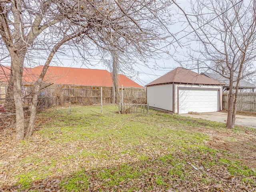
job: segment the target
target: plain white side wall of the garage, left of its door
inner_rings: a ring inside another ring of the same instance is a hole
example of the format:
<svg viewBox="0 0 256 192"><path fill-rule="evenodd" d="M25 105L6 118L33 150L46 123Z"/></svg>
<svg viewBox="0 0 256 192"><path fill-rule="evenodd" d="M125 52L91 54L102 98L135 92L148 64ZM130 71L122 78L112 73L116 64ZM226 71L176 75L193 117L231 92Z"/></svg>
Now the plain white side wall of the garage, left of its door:
<svg viewBox="0 0 256 192"><path fill-rule="evenodd" d="M150 107L172 111L172 84L147 87L147 102Z"/></svg>

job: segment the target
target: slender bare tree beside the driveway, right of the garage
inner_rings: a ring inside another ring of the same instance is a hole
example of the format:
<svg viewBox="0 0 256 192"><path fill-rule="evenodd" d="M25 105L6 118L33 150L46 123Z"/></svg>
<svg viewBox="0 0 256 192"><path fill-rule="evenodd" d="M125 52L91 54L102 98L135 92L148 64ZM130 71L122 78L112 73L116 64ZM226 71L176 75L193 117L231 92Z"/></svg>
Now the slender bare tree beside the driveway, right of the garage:
<svg viewBox="0 0 256 192"><path fill-rule="evenodd" d="M239 82L256 72L256 1L196 0L190 13L176 6L192 28L194 36L188 40L199 44L187 55L188 65L193 68L192 62L199 60L205 71L229 79L226 126L234 128Z"/></svg>

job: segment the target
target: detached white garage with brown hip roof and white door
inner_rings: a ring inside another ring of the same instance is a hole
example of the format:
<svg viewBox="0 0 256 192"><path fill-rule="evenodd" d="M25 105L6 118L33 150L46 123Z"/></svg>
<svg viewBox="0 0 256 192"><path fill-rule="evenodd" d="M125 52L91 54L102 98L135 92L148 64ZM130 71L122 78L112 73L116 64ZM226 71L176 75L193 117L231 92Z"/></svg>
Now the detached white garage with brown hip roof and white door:
<svg viewBox="0 0 256 192"><path fill-rule="evenodd" d="M184 114L222 110L222 83L178 67L146 85L150 108Z"/></svg>

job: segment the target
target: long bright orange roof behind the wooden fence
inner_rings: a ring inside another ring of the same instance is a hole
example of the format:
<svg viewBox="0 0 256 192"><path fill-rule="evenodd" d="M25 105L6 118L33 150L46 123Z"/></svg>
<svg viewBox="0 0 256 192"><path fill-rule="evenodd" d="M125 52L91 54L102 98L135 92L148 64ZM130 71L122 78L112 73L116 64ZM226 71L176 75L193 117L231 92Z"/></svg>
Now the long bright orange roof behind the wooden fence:
<svg viewBox="0 0 256 192"><path fill-rule="evenodd" d="M41 73L43 66L34 68L24 68L23 82L35 82ZM1 68L0 68L1 70ZM10 70L8 72L10 74ZM1 75L1 72L0 72ZM1 77L1 76L0 76ZM107 70L100 69L84 69L84 68L70 68L50 66L44 77L44 81L54 84L70 84L70 85L83 85L83 86L107 86L112 87L111 73ZM143 86L137 84L130 78L118 74L118 84L124 87L138 87Z"/></svg>

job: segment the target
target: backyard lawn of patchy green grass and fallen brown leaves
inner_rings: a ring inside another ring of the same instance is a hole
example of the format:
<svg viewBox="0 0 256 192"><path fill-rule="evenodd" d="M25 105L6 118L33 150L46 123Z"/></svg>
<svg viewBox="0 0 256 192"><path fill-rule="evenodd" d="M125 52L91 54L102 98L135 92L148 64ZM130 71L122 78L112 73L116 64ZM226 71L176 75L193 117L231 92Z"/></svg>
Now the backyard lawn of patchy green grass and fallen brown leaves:
<svg viewBox="0 0 256 192"><path fill-rule="evenodd" d="M256 130L150 110L72 106L0 131L0 191L256 191Z"/></svg>

